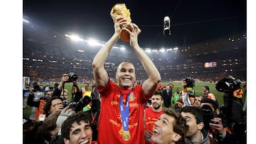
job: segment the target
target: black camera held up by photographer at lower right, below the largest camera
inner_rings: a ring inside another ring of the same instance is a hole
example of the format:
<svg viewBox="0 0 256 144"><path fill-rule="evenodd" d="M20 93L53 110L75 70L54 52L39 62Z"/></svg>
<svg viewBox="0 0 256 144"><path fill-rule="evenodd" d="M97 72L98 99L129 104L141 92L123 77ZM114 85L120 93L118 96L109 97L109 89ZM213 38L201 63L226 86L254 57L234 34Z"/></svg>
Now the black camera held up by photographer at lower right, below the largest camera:
<svg viewBox="0 0 256 144"><path fill-rule="evenodd" d="M213 109L208 105L203 105L201 107L201 111L203 112L203 122L207 125L208 123L215 123L215 121L211 121L211 119L218 116L218 114L213 111Z"/></svg>

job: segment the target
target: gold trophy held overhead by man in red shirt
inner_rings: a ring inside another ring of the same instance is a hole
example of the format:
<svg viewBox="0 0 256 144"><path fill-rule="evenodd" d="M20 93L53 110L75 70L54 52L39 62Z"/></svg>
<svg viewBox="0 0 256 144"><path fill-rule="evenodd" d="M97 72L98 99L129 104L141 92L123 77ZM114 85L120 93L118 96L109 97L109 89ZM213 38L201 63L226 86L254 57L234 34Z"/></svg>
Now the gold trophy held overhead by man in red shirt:
<svg viewBox="0 0 256 144"><path fill-rule="evenodd" d="M112 17L113 21L115 21L117 18L124 18L127 20L127 24L132 23L132 19L130 17L131 13L125 4L115 4L110 11L110 16ZM128 25L123 25L122 27L131 30L131 27ZM129 42L129 33L122 30L120 33L120 38L124 42Z"/></svg>

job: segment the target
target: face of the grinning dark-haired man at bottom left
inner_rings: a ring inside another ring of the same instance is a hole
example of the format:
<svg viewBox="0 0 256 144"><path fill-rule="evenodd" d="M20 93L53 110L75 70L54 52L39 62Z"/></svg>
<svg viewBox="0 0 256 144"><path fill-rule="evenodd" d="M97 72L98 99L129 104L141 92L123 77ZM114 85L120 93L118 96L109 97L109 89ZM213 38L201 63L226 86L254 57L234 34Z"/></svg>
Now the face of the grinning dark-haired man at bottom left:
<svg viewBox="0 0 256 144"><path fill-rule="evenodd" d="M64 138L65 144L91 144L92 143L92 128L85 121L73 123L70 129L70 140Z"/></svg>

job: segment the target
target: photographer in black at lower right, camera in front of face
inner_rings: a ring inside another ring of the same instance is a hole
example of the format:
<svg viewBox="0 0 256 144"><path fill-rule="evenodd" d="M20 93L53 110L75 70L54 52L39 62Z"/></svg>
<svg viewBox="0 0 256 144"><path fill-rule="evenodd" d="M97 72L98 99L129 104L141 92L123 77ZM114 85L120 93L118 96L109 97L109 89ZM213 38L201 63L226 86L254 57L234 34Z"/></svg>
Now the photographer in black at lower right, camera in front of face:
<svg viewBox="0 0 256 144"><path fill-rule="evenodd" d="M210 137L218 143L235 143L235 137L228 128L227 122L220 115L218 102L213 99L202 99L201 111L203 111L204 128Z"/></svg>

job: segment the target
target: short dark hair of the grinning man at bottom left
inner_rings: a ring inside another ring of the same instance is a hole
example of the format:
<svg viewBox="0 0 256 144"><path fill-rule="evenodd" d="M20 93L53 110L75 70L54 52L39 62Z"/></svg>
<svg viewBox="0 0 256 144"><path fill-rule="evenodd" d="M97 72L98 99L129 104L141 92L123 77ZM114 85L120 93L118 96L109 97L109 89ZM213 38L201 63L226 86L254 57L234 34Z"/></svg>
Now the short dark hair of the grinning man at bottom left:
<svg viewBox="0 0 256 144"><path fill-rule="evenodd" d="M78 125L80 125L81 121L89 123L92 127L92 116L90 113L79 111L78 113L74 113L73 115L68 116L68 118L63 122L61 126L61 136L70 140L70 130L73 126L73 123L78 123Z"/></svg>

